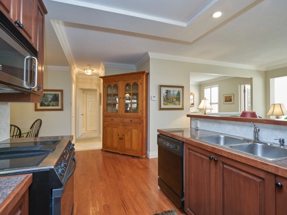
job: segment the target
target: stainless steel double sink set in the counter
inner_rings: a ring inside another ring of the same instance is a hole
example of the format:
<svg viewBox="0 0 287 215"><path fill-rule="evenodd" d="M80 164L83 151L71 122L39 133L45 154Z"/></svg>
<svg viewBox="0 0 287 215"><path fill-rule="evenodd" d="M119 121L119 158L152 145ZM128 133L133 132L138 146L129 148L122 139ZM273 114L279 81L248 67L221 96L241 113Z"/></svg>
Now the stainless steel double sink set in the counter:
<svg viewBox="0 0 287 215"><path fill-rule="evenodd" d="M246 141L246 139L233 138L223 135L196 137L196 139L225 146L243 153L253 154L267 160L287 159L287 149L278 146L271 146L264 142L258 141L250 143Z"/></svg>

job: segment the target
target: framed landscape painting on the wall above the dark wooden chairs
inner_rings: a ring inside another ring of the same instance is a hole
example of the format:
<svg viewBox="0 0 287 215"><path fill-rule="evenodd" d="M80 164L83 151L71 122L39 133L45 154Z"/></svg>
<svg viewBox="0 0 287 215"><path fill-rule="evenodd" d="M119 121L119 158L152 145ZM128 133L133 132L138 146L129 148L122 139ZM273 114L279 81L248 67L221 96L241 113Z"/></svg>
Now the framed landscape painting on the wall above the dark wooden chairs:
<svg viewBox="0 0 287 215"><path fill-rule="evenodd" d="M35 111L63 110L63 90L44 90L40 103L35 104Z"/></svg>

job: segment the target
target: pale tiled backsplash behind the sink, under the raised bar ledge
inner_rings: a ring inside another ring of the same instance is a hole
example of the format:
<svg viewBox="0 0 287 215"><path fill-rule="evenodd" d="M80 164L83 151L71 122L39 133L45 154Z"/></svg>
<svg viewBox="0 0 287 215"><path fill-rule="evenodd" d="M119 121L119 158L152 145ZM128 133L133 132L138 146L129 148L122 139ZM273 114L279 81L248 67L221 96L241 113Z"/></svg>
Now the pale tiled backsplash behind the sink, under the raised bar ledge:
<svg viewBox="0 0 287 215"><path fill-rule="evenodd" d="M254 126L251 123L235 121L191 118L191 127L195 128L195 120L199 121L199 129L214 131L228 135L253 139ZM278 138L287 140L287 126L255 123L260 129L259 140L278 143Z"/></svg>

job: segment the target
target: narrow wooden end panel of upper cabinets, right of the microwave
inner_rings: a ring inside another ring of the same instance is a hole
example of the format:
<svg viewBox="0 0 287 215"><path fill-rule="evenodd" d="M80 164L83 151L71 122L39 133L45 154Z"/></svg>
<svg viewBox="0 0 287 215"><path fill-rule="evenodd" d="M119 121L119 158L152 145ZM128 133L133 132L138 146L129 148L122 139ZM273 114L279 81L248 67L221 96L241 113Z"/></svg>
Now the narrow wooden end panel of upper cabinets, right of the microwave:
<svg viewBox="0 0 287 215"><path fill-rule="evenodd" d="M35 48L38 50L38 95L43 95L44 84L44 12L40 3L36 2L35 19ZM38 41L38 42L36 42Z"/></svg>

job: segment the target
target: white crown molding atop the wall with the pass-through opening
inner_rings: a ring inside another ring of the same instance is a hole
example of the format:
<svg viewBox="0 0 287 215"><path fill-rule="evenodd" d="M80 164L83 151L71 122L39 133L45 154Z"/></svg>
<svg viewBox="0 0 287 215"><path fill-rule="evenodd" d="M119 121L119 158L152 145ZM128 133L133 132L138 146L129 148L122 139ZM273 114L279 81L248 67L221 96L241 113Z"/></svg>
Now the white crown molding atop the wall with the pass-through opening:
<svg viewBox="0 0 287 215"><path fill-rule="evenodd" d="M201 63L201 64L226 66L226 67L241 68L241 69L260 70L260 71L266 70L266 67L260 67L260 66L252 66L252 65L247 65L247 64L230 63L230 62L223 62L223 61L204 60L204 59L199 59L199 58L190 58L190 57L183 57L183 56L177 56L177 55L167 55L167 54L160 54L160 53L154 53L154 52L148 52L148 55L150 58L163 59L163 60L194 62L194 63Z"/></svg>

